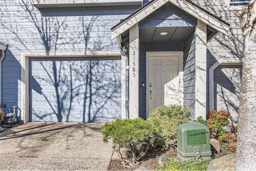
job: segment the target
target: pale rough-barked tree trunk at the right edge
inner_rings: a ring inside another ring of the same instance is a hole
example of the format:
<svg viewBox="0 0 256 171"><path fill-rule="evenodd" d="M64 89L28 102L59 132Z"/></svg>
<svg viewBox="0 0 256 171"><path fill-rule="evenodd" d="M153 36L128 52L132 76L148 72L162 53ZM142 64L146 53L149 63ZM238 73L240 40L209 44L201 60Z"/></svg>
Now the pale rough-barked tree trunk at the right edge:
<svg viewBox="0 0 256 171"><path fill-rule="evenodd" d="M251 0L238 14L245 38L245 48L238 112L236 170L256 169L256 6L254 1Z"/></svg>

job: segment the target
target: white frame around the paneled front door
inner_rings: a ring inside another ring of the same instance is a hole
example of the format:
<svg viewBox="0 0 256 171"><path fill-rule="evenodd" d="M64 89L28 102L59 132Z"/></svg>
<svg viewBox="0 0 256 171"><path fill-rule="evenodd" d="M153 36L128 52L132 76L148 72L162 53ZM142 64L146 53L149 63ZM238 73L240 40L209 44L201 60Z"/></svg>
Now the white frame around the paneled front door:
<svg viewBox="0 0 256 171"><path fill-rule="evenodd" d="M150 56L178 56L179 105L183 105L183 51L178 52L146 52L146 117L149 112L149 58Z"/></svg>

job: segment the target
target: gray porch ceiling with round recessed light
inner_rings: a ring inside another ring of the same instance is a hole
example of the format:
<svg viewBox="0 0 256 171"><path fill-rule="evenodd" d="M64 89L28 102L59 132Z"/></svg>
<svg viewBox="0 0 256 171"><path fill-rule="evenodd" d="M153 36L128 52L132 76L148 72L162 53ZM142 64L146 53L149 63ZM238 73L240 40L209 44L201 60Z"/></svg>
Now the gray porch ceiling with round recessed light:
<svg viewBox="0 0 256 171"><path fill-rule="evenodd" d="M147 27L139 28L140 42L183 41L194 27ZM166 35L160 33L166 32Z"/></svg>

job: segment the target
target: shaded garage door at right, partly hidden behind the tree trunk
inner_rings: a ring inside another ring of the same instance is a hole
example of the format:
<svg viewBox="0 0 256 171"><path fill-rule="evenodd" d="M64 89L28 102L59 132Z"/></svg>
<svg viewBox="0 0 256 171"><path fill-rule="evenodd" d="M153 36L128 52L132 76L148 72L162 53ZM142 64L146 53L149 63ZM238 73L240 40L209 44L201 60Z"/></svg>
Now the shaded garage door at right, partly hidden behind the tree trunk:
<svg viewBox="0 0 256 171"><path fill-rule="evenodd" d="M220 65L214 70L214 109L230 112L230 123L237 125L242 65Z"/></svg>

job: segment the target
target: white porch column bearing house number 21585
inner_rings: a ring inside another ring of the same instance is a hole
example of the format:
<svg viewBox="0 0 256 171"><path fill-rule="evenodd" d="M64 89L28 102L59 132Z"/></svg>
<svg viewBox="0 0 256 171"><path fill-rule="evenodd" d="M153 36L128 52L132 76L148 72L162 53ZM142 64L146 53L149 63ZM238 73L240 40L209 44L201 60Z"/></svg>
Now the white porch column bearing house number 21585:
<svg viewBox="0 0 256 171"><path fill-rule="evenodd" d="M139 117L139 27L129 30L129 118Z"/></svg>

